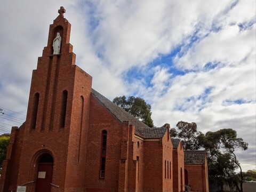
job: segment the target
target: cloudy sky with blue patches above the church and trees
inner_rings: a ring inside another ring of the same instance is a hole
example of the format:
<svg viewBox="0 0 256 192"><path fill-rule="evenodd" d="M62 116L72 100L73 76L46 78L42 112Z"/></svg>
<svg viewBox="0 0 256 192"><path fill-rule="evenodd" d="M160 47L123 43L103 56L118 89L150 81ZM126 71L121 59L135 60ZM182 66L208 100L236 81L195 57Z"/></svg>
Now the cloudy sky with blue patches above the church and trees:
<svg viewBox="0 0 256 192"><path fill-rule="evenodd" d="M243 169L256 169L254 0L2 0L0 134L26 118L31 73L60 6L95 90L144 98L156 126L232 128L249 143L237 152Z"/></svg>

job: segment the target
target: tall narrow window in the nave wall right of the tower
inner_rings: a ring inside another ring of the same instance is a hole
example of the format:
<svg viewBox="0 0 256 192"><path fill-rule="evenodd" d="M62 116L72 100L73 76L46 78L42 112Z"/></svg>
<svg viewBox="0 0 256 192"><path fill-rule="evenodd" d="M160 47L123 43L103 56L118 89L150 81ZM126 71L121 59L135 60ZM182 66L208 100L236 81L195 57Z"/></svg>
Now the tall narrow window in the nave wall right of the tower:
<svg viewBox="0 0 256 192"><path fill-rule="evenodd" d="M107 131L103 130L102 137L101 137L100 179L105 178L106 151L107 151Z"/></svg>

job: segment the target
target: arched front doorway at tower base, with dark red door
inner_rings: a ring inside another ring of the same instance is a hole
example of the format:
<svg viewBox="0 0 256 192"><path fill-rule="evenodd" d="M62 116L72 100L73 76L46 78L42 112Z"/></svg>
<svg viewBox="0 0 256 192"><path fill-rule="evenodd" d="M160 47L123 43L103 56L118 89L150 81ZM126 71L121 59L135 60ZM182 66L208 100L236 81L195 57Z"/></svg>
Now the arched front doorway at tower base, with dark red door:
<svg viewBox="0 0 256 192"><path fill-rule="evenodd" d="M53 170L53 158L50 154L45 153L39 157L36 192L51 192Z"/></svg>

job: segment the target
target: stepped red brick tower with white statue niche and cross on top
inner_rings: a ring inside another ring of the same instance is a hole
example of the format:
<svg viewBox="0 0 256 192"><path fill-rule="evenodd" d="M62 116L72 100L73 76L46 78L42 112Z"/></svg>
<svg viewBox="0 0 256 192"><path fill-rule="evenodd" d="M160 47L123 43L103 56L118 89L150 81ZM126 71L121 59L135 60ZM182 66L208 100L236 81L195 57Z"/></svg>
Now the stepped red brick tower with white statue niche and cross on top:
<svg viewBox="0 0 256 192"><path fill-rule="evenodd" d="M33 70L26 122L12 128L3 191L21 185L27 192L84 189L92 77L75 65L65 12L60 7Z"/></svg>

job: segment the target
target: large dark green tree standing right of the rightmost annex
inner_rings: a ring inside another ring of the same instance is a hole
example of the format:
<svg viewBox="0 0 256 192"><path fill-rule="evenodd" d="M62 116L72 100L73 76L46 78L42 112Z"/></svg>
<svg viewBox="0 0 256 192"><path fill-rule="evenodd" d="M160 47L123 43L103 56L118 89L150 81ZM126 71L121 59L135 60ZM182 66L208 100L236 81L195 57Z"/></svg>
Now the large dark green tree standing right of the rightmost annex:
<svg viewBox="0 0 256 192"><path fill-rule="evenodd" d="M209 175L219 178L222 184L226 182L230 186L235 186L242 192L245 178L235 151L247 150L248 143L242 138L237 138L237 133L233 129L207 132L205 137L201 134L198 138L199 145L207 151ZM236 169L239 170L238 174L235 174Z"/></svg>

